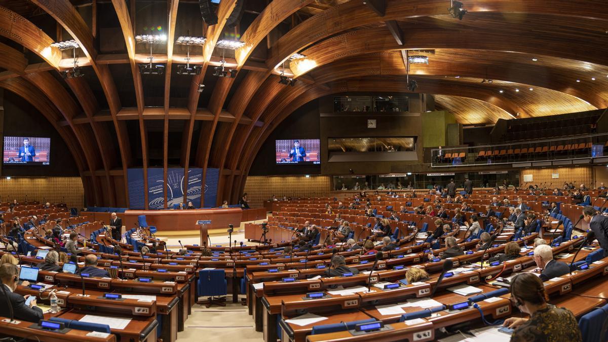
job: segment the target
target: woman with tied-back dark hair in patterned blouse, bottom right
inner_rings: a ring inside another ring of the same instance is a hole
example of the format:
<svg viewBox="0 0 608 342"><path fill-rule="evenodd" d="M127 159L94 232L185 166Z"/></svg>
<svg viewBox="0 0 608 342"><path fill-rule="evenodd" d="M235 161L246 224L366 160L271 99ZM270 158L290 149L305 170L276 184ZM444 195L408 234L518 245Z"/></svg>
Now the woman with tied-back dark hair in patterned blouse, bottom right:
<svg viewBox="0 0 608 342"><path fill-rule="evenodd" d="M515 329L511 342L581 341L581 330L568 309L547 304L541 279L532 273L511 280L511 303L530 318L508 318L504 326Z"/></svg>

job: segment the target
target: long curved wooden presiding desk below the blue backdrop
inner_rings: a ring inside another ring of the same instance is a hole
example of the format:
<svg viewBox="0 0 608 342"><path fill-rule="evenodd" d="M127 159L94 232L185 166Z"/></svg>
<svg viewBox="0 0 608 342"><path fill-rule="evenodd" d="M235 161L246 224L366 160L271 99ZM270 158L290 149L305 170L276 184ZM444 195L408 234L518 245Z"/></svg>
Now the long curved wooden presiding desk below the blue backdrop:
<svg viewBox="0 0 608 342"><path fill-rule="evenodd" d="M139 226L137 216L146 215L148 226L161 231L198 231L198 220L211 220L208 229L228 229L228 225L241 225L241 208L213 208L189 210L128 210L122 214L125 229Z"/></svg>

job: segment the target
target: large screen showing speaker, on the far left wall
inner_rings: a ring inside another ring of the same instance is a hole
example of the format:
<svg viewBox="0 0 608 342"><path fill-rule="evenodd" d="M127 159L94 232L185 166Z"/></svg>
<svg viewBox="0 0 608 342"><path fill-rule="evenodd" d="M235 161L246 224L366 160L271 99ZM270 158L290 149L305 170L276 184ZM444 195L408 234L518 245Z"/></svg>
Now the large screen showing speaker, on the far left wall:
<svg viewBox="0 0 608 342"><path fill-rule="evenodd" d="M5 136L2 161L5 165L49 165L50 138Z"/></svg>

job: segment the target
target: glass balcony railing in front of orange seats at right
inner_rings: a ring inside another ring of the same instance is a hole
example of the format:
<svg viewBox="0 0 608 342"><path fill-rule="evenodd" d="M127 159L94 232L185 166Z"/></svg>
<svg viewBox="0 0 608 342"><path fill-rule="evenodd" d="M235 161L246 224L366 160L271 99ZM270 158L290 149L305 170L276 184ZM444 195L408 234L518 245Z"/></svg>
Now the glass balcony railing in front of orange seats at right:
<svg viewBox="0 0 608 342"><path fill-rule="evenodd" d="M608 156L608 133L474 147L432 148L432 167L559 161Z"/></svg>

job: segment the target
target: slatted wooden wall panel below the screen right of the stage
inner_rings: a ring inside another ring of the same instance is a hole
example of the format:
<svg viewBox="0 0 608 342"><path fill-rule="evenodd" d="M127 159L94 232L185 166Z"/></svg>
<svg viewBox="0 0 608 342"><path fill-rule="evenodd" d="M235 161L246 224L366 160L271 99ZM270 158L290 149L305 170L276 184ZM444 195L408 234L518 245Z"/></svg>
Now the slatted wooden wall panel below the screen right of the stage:
<svg viewBox="0 0 608 342"><path fill-rule="evenodd" d="M292 197L327 197L330 195L330 176L248 176L245 183L251 208L260 208L264 201L277 195Z"/></svg>

